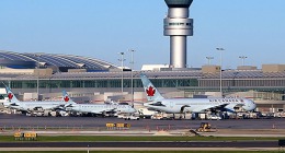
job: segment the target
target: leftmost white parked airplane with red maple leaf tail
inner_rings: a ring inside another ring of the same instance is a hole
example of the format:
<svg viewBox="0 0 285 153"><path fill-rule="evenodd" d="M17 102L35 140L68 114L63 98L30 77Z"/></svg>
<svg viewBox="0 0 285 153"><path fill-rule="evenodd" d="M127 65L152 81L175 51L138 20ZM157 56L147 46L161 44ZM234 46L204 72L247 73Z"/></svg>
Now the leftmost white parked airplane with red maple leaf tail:
<svg viewBox="0 0 285 153"><path fill-rule="evenodd" d="M62 108L66 104L65 101L20 102L15 97L15 95L13 94L13 92L11 91L10 87L5 86L5 90L7 90L9 102L5 102L4 106L9 107L9 108L14 108L14 109L21 110L23 113L24 111L32 113L35 110L41 110L41 111L56 110L56 109Z"/></svg>

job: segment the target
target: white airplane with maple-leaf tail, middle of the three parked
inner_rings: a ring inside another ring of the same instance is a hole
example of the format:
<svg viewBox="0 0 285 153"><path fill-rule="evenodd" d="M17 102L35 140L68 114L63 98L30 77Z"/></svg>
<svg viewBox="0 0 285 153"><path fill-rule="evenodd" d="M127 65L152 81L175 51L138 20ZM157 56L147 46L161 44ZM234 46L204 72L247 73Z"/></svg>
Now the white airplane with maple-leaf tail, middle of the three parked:
<svg viewBox="0 0 285 153"><path fill-rule="evenodd" d="M127 103L110 103L110 104L77 104L75 103L66 91L62 91L66 110L81 114L106 115L110 113L117 114L133 114L136 109Z"/></svg>

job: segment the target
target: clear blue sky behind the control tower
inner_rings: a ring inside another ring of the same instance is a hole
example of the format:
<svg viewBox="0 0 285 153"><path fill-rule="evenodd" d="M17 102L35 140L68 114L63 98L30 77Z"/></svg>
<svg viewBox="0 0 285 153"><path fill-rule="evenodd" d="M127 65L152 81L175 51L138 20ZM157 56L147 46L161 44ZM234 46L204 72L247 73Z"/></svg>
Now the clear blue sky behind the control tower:
<svg viewBox="0 0 285 153"><path fill-rule="evenodd" d="M194 0L190 16L194 36L187 39L187 64L206 57L236 69L246 64L285 63L285 0ZM163 36L163 0L1 0L0 50L49 52L99 58L136 69L142 63L169 63L169 37Z"/></svg>

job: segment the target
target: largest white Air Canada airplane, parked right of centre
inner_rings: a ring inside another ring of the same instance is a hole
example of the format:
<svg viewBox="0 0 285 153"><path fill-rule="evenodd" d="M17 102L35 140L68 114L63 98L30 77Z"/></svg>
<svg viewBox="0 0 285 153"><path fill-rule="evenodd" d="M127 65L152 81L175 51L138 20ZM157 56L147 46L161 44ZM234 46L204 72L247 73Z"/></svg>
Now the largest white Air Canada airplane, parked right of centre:
<svg viewBox="0 0 285 153"><path fill-rule="evenodd" d="M254 102L248 98L164 98L145 74L140 74L140 79L148 99L144 106L164 113L235 113L236 107L242 107L247 111L256 107Z"/></svg>

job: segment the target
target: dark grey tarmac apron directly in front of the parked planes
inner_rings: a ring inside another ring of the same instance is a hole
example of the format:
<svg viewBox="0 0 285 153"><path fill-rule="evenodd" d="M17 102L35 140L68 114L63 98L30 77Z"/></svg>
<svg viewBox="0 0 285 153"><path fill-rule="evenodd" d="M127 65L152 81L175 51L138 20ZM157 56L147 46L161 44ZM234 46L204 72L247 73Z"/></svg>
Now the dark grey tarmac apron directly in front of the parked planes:
<svg viewBox="0 0 285 153"><path fill-rule="evenodd" d="M226 120L124 120L115 117L29 117L0 114L0 127L54 127L54 128L105 128L106 123L129 123L132 129L196 129L201 122L209 122L216 129L285 129L285 118L226 119Z"/></svg>

